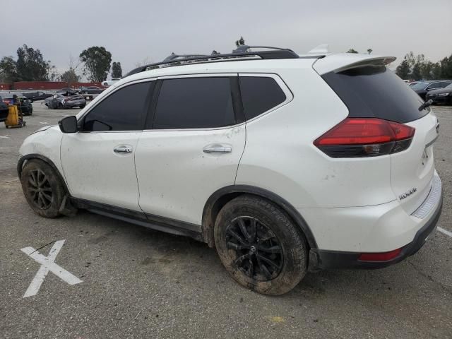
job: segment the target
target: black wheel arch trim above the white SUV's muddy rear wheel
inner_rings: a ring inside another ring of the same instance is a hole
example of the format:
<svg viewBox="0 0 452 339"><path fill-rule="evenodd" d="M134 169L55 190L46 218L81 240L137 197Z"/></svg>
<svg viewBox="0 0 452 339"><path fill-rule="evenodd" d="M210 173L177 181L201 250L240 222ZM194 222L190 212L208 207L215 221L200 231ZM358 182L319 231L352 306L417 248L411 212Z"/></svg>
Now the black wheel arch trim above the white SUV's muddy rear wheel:
<svg viewBox="0 0 452 339"><path fill-rule="evenodd" d="M296 208L294 208L284 198L278 196L278 194L274 194L273 192L266 189L261 189L256 186L249 185L226 186L222 189L218 189L208 198L203 209L202 236L204 241L210 247L215 246L215 241L213 239L213 226L215 225L215 219L221 208L233 198L241 196L242 194L252 194L254 196L265 198L266 200L275 203L276 206L284 210L285 213L289 215L292 221L295 222L295 225L297 225L299 229L304 233L309 247L311 249L317 248L314 234L312 234L311 229L307 225L307 222L304 220L302 215L299 214Z"/></svg>

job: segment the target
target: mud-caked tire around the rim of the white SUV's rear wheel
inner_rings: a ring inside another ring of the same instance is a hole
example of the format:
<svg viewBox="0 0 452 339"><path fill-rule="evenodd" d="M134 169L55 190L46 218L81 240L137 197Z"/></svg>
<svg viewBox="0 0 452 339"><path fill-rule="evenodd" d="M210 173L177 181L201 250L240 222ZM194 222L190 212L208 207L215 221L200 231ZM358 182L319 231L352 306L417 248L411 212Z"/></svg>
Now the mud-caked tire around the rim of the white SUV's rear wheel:
<svg viewBox="0 0 452 339"><path fill-rule="evenodd" d="M283 249L283 268L280 274L269 281L258 281L248 277L234 266L234 251L226 247L227 225L239 216L256 218L268 227L278 238ZM282 295L289 292L304 277L307 270L307 242L297 226L277 206L269 201L254 197L241 196L227 203L215 220L215 246L220 259L240 285L266 295Z"/></svg>

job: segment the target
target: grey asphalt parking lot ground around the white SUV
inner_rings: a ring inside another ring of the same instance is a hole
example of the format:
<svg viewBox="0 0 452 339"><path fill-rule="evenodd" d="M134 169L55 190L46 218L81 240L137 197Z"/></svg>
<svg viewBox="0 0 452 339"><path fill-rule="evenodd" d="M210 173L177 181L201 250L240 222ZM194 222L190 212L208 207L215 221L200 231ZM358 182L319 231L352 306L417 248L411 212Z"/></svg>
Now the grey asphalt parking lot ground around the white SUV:
<svg viewBox="0 0 452 339"><path fill-rule="evenodd" d="M35 215L16 174L20 144L78 109L33 106L23 129L0 125L0 338L452 338L452 107L434 107L446 232L395 266L308 273L266 297L234 283L206 244L83 211ZM62 239L55 263L83 283L49 272L24 298L40 264L20 249Z"/></svg>

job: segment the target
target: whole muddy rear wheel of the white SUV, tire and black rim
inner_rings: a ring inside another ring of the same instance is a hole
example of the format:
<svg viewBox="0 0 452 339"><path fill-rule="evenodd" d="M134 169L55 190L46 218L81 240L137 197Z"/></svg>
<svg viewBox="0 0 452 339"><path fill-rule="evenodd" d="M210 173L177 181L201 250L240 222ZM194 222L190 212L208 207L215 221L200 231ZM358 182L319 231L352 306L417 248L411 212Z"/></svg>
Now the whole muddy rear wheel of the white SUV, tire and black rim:
<svg viewBox="0 0 452 339"><path fill-rule="evenodd" d="M287 214L270 201L239 196L215 220L220 259L240 285L264 295L292 290L307 271L307 242Z"/></svg>

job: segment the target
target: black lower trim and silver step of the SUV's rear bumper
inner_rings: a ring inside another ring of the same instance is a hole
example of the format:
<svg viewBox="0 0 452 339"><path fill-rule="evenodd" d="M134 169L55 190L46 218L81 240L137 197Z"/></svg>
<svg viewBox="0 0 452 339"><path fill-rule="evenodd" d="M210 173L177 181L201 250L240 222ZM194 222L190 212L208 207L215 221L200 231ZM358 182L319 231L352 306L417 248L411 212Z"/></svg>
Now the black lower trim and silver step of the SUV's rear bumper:
<svg viewBox="0 0 452 339"><path fill-rule="evenodd" d="M410 218L422 220L422 227L417 230L414 239L412 239L411 242L396 247L402 248L400 254L398 254L396 258L388 261L359 261L359 256L362 253L366 253L366 251L352 252L311 249L309 253L309 270L323 270L330 268L383 268L403 261L408 256L415 254L424 245L429 234L436 230L436 224L441 215L443 192L441 180L437 177L437 174L435 174L435 176L436 185L434 184L432 186L429 196L427 196L424 203L410 215Z"/></svg>

